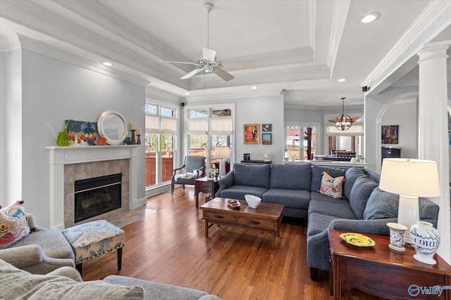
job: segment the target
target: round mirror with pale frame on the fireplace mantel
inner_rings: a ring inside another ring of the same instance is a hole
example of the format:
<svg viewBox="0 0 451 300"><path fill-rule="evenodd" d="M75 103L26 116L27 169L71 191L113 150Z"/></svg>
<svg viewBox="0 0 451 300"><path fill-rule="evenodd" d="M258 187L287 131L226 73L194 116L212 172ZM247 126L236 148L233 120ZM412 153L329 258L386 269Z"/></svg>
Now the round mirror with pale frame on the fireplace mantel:
<svg viewBox="0 0 451 300"><path fill-rule="evenodd" d="M122 145L128 133L127 121L119 112L106 110L97 120L97 131L109 145Z"/></svg>

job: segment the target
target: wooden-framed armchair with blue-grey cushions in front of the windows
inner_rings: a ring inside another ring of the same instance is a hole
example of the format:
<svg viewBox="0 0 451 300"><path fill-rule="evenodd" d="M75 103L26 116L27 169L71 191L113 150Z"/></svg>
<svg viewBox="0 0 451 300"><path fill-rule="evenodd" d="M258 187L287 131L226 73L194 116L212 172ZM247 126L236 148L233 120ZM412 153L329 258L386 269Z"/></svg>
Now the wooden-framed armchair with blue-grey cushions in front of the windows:
<svg viewBox="0 0 451 300"><path fill-rule="evenodd" d="M171 178L171 195L174 193L174 185L194 184L197 178L205 176L205 157L197 155L187 155L182 167L173 169Z"/></svg>

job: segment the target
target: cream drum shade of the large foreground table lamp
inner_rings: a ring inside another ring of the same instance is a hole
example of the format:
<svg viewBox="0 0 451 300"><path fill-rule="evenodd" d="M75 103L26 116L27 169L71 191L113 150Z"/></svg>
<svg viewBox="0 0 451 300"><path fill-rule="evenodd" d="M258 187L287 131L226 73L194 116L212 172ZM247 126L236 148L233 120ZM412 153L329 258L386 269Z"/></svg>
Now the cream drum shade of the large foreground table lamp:
<svg viewBox="0 0 451 300"><path fill-rule="evenodd" d="M438 197L437 163L423 159L385 158L379 188L406 196Z"/></svg>

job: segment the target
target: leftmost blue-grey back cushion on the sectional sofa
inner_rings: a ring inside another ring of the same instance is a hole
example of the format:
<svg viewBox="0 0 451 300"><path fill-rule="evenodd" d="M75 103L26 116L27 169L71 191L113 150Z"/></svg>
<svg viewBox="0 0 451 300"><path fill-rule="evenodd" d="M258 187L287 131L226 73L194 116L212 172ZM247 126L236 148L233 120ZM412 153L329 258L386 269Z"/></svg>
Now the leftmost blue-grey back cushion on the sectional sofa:
<svg viewBox="0 0 451 300"><path fill-rule="evenodd" d="M269 188L271 164L234 164L233 170L233 184Z"/></svg>

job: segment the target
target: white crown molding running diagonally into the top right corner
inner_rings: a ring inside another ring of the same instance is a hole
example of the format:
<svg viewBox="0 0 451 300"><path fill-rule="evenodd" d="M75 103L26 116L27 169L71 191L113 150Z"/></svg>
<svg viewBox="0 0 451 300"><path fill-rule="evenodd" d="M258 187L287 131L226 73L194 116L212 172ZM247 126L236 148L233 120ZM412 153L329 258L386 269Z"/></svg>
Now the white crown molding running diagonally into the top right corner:
<svg viewBox="0 0 451 300"><path fill-rule="evenodd" d="M401 39L385 55L381 63L366 77L361 86L370 86L371 91L380 91L380 89L376 89L377 86L382 84L403 63L415 56L424 44L431 41L438 32L451 24L450 14L451 1L431 1Z"/></svg>

